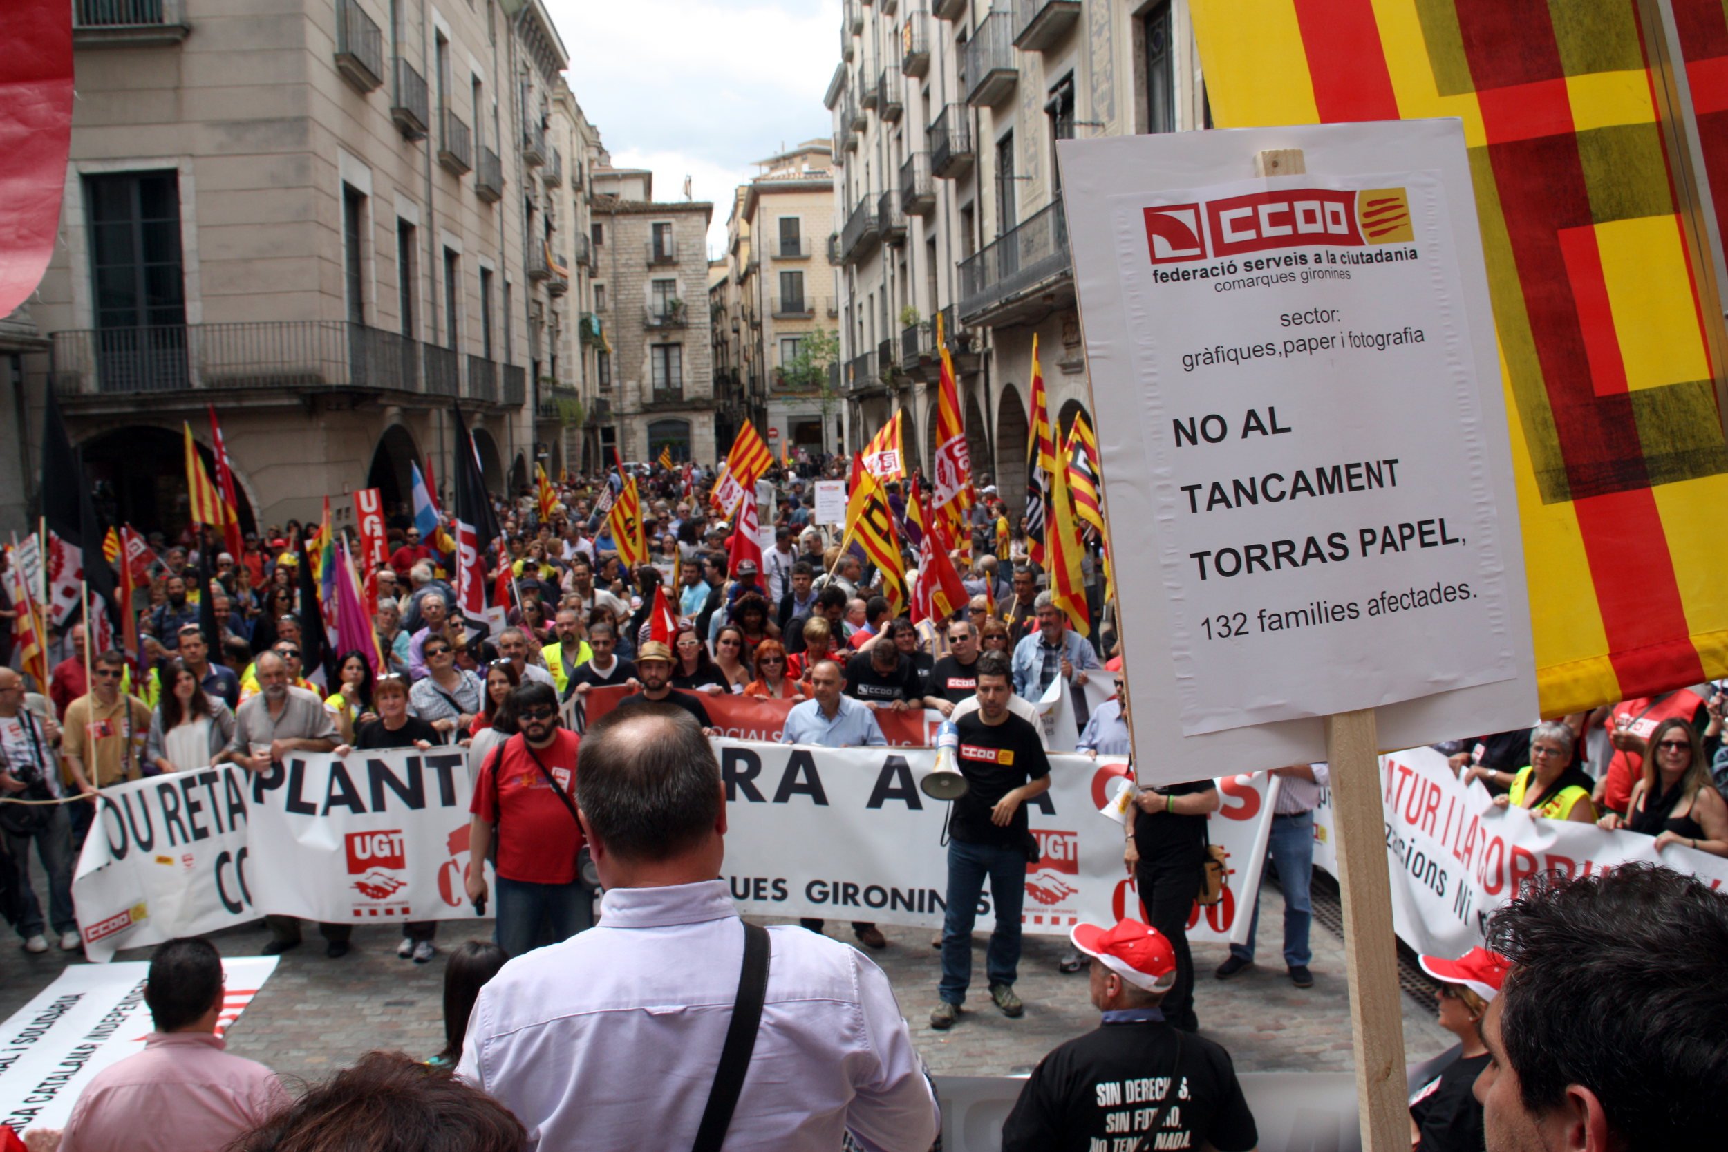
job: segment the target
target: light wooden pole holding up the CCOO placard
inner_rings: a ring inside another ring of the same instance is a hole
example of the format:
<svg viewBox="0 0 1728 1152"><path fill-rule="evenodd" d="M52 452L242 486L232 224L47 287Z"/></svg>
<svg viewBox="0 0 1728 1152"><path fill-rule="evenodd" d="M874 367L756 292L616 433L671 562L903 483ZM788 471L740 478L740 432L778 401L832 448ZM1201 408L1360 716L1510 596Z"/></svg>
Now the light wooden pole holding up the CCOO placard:
<svg viewBox="0 0 1728 1152"><path fill-rule="evenodd" d="M1403 1003L1393 888L1386 865L1386 813L1381 807L1379 741L1374 710L1325 718L1332 774L1337 886L1344 908L1344 964L1350 976L1350 1036L1356 1060L1362 1147L1407 1152Z"/></svg>

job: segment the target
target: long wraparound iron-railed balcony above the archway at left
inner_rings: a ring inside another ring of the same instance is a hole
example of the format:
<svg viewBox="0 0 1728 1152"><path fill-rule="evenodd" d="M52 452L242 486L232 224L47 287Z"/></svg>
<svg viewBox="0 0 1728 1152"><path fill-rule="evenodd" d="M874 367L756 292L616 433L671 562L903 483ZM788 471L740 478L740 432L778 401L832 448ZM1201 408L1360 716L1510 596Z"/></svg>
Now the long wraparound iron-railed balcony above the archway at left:
<svg viewBox="0 0 1728 1152"><path fill-rule="evenodd" d="M449 349L342 320L55 332L50 358L55 394L74 402L180 392L454 397L460 387ZM470 373L473 363L489 361L470 358Z"/></svg>

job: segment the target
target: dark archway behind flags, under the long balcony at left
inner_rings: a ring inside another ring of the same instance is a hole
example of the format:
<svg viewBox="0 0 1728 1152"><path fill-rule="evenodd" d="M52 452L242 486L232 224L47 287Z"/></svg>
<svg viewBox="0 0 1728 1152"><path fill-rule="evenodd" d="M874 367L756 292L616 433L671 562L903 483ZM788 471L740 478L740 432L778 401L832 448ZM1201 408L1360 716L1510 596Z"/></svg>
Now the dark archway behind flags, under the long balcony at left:
<svg viewBox="0 0 1728 1152"><path fill-rule="evenodd" d="M185 432L133 425L104 432L81 444L79 451L98 520L180 539L190 523L192 503L187 494ZM197 451L214 482L214 456L202 444ZM240 530L256 532L257 516L238 482L235 499L240 503Z"/></svg>

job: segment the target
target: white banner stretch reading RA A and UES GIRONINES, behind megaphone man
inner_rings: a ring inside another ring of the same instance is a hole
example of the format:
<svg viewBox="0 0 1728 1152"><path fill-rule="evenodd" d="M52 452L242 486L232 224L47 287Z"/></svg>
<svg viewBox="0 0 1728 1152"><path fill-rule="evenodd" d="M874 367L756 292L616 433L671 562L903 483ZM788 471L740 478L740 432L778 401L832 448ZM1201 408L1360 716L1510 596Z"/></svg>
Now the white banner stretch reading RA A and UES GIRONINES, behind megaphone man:
<svg viewBox="0 0 1728 1152"><path fill-rule="evenodd" d="M727 794L726 879L741 912L942 924L947 812L918 789L935 750L731 739L714 746ZM1121 826L1099 813L1127 770L1121 760L1051 756L1051 789L1028 801L1040 858L1026 865L1026 933L1063 936L1080 921L1144 919L1123 864ZM1267 779L1220 781L1223 810L1211 817L1210 834L1229 848L1232 877L1222 903L1204 915L1196 907L1196 940L1229 940L1239 900L1258 889ZM983 902L990 903L988 889Z"/></svg>

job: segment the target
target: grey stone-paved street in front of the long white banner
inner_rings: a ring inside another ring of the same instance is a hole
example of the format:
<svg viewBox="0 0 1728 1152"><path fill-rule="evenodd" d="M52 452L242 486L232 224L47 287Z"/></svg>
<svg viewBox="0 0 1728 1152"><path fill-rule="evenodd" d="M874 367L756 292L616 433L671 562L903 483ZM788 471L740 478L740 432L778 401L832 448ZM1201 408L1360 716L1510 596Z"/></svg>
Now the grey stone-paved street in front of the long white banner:
<svg viewBox="0 0 1728 1152"><path fill-rule="evenodd" d="M1315 891L1317 905L1324 902ZM1222 945L1196 945L1196 986L1201 1031L1222 1043L1241 1071L1350 1071L1350 1005L1344 986L1344 948L1336 931L1317 915L1313 927L1315 984L1299 990L1277 960L1282 900L1275 884L1261 896L1260 957L1253 969L1229 983L1211 971L1227 955ZM766 921L781 922L781 921ZM850 941L843 921L829 933ZM491 921L444 924L439 945L491 933ZM1063 941L1026 938L1016 984L1026 1014L1011 1021L997 1012L982 986L985 936L975 938L973 990L968 1010L949 1033L930 1028L937 1002L938 964L928 929L888 927L888 948L871 953L893 981L900 1009L912 1022L918 1048L931 1071L950 1076L995 1076L1028 1071L1056 1043L1089 1031L1097 1014L1087 1002L1083 972L1064 976L1056 962ZM213 941L225 955L257 955L270 934L263 922L218 933ZM372 1048L399 1048L429 1057L442 1047L441 988L444 952L430 964L396 955L399 940L385 927L354 931L354 950L330 960L323 940L308 926L306 943L282 957L276 974L230 1031L230 1050L276 1069L283 1078L316 1081ZM16 943L0 946L0 1012L12 1014L45 988L66 964L50 948L29 955ZM149 950L123 952L119 960L147 960ZM81 959L78 960L83 962ZM1427 1059L1452 1043L1434 1022L1431 1003L1403 997L1405 1050L1410 1060Z"/></svg>

